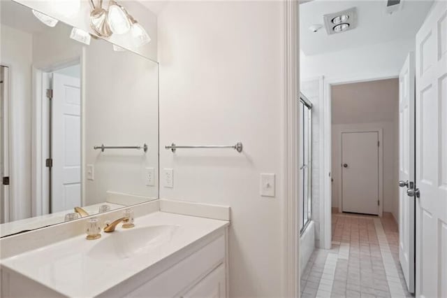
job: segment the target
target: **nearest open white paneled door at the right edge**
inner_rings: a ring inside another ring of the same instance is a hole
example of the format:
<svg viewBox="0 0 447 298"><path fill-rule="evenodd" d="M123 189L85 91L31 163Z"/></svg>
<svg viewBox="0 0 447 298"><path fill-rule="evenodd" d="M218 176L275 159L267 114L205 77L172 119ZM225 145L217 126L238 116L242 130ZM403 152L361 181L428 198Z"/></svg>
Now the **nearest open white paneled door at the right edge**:
<svg viewBox="0 0 447 298"><path fill-rule="evenodd" d="M447 297L447 1L433 5L416 34L417 297Z"/></svg>

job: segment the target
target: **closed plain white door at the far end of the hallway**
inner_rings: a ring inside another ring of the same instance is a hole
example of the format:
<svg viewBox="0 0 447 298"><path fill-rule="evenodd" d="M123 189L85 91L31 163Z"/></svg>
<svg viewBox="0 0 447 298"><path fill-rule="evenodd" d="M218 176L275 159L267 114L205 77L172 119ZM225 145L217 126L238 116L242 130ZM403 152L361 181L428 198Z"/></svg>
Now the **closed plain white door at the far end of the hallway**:
<svg viewBox="0 0 447 298"><path fill-rule="evenodd" d="M379 133L342 133L342 210L379 214Z"/></svg>

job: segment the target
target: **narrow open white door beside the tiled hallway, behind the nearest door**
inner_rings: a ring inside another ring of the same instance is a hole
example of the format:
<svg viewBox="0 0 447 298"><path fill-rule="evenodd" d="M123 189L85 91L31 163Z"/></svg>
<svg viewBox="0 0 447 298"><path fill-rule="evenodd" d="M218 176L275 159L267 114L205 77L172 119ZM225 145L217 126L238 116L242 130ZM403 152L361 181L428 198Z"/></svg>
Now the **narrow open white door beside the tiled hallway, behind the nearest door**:
<svg viewBox="0 0 447 298"><path fill-rule="evenodd" d="M409 292L414 292L415 200L406 194L414 169L415 62L410 52L399 75L399 260Z"/></svg>

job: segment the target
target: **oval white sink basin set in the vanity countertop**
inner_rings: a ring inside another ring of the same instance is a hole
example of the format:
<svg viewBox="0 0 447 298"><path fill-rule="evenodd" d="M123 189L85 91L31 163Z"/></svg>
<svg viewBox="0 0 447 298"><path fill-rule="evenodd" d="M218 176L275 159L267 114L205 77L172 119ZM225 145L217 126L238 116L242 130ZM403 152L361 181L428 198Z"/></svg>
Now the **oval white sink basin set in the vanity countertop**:
<svg viewBox="0 0 447 298"><path fill-rule="evenodd" d="M115 230L107 238L98 240L87 255L94 260L116 261L154 253L171 241L179 227L179 225L154 225Z"/></svg>

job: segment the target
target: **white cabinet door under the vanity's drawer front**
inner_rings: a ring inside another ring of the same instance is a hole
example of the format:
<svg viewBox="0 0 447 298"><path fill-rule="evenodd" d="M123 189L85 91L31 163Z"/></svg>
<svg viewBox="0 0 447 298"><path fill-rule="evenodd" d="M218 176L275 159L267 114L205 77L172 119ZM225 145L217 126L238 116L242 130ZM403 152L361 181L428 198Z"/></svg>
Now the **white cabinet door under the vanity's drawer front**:
<svg viewBox="0 0 447 298"><path fill-rule="evenodd" d="M181 296L182 298L224 298L226 297L225 266L221 264L210 274L205 276L191 290Z"/></svg>

